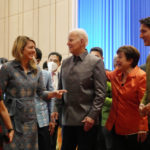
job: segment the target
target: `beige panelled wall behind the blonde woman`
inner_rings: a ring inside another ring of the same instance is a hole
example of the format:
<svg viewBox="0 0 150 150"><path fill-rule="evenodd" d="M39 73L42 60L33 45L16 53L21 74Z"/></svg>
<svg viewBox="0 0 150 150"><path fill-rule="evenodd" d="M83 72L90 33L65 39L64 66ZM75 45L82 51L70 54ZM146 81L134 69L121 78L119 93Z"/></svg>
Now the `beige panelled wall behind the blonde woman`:
<svg viewBox="0 0 150 150"><path fill-rule="evenodd" d="M76 0L0 0L1 57L12 59L14 40L18 35L27 35L42 49L42 62L52 51L66 58L67 35L73 22L72 1Z"/></svg>

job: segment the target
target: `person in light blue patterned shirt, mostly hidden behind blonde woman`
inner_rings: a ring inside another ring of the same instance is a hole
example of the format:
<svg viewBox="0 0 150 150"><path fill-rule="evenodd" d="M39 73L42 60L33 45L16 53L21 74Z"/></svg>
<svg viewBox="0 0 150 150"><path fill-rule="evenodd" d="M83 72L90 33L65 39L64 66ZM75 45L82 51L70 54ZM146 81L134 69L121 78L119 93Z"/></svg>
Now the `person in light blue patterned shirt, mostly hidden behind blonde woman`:
<svg viewBox="0 0 150 150"><path fill-rule="evenodd" d="M42 51L39 48L35 48L37 64L42 59ZM47 91L53 91L51 74L42 70L43 82ZM51 145L50 133L53 134L53 125L50 122L50 103L51 101L44 101L38 95L35 98L36 116L38 122L38 145L39 150L49 150Z"/></svg>

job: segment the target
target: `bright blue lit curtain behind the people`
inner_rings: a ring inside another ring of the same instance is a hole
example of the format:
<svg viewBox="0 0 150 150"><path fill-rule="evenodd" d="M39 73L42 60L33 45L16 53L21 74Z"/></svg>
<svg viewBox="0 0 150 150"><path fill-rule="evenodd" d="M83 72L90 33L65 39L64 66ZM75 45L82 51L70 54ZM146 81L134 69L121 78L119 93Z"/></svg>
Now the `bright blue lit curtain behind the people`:
<svg viewBox="0 0 150 150"><path fill-rule="evenodd" d="M150 16L150 0L78 0L78 27L87 31L88 51L103 49L107 69L113 69L113 57L122 45L133 45L141 54L139 65L146 62L150 47L140 35L141 18Z"/></svg>

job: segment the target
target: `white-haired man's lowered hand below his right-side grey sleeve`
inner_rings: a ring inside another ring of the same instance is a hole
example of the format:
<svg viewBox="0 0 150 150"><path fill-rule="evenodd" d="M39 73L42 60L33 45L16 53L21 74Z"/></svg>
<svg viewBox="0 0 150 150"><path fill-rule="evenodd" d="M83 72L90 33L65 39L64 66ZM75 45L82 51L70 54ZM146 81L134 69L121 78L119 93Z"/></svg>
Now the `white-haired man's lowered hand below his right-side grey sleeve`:
<svg viewBox="0 0 150 150"><path fill-rule="evenodd" d="M87 132L93 127L95 120L90 117L85 117L82 122L84 123L84 131Z"/></svg>

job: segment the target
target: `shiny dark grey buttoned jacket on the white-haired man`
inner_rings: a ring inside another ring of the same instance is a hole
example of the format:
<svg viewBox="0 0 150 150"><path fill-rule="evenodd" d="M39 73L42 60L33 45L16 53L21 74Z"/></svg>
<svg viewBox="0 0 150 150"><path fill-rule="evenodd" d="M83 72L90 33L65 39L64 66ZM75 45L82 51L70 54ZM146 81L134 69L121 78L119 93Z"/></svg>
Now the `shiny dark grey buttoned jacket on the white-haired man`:
<svg viewBox="0 0 150 150"><path fill-rule="evenodd" d="M102 60L87 52L77 61L74 56L65 59L58 87L68 91L58 100L62 102L62 125L81 126L86 116L98 120L106 92Z"/></svg>

